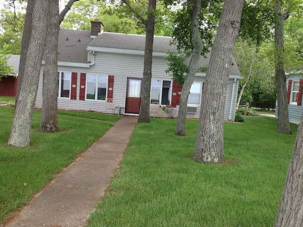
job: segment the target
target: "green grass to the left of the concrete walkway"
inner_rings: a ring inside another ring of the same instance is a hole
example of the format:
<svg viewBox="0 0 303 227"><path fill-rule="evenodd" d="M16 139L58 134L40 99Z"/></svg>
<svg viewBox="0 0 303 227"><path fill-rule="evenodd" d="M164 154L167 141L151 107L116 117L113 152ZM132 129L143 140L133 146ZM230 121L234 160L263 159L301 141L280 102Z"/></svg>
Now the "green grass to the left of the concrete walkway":
<svg viewBox="0 0 303 227"><path fill-rule="evenodd" d="M59 111L61 132L45 134L39 131L41 112L34 111L30 146L17 148L7 146L13 116L14 107L0 106L0 223L120 119L117 115Z"/></svg>

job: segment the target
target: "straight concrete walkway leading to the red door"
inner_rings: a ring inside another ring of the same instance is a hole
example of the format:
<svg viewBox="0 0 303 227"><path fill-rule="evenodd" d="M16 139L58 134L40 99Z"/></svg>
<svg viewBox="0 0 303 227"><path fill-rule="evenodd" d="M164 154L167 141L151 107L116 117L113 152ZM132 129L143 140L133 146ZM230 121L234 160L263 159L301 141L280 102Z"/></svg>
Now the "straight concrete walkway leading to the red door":
<svg viewBox="0 0 303 227"><path fill-rule="evenodd" d="M1 226L85 226L95 203L105 193L112 173L119 168L137 120L137 117L123 116L28 205Z"/></svg>

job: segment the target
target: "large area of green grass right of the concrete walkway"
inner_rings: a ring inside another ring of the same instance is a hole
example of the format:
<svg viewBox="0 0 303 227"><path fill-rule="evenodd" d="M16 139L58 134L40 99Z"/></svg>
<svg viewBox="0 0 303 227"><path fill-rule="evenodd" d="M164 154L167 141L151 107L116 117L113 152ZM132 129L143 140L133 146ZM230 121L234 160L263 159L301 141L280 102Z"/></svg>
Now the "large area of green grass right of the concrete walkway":
<svg viewBox="0 0 303 227"><path fill-rule="evenodd" d="M87 226L273 226L297 125L282 135L276 118L226 122L225 163L212 165L193 160L198 121L186 121L185 137L175 124L137 124Z"/></svg>

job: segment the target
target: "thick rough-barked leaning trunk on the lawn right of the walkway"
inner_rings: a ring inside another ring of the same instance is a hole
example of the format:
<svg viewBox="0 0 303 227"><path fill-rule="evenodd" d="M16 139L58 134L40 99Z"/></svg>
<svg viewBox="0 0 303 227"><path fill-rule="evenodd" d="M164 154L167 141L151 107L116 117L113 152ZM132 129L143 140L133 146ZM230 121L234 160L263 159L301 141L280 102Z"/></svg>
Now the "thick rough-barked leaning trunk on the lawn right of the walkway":
<svg viewBox="0 0 303 227"><path fill-rule="evenodd" d="M198 163L223 162L225 95L244 2L244 0L224 1L202 92L194 153L194 159Z"/></svg>

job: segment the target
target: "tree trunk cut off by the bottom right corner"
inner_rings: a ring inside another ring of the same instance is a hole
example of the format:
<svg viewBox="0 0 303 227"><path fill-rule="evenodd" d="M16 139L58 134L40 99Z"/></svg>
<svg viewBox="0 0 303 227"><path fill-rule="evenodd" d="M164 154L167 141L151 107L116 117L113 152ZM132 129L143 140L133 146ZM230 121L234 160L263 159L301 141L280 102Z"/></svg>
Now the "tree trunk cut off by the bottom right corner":
<svg viewBox="0 0 303 227"><path fill-rule="evenodd" d="M298 127L287 171L275 227L300 227L303 225L303 115Z"/></svg>

